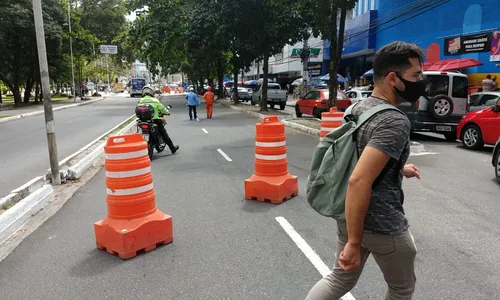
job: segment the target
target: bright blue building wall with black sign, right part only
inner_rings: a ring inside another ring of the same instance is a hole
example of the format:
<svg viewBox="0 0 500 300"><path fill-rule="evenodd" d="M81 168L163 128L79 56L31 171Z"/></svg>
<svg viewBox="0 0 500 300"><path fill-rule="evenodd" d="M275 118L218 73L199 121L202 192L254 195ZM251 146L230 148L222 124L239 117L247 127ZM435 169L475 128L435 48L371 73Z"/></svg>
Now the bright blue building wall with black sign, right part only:
<svg viewBox="0 0 500 300"><path fill-rule="evenodd" d="M452 0L437 7L443 1L378 1L380 21L394 16L395 12L420 10L402 17L401 20L408 20L400 25L381 25L377 32L377 49L402 40L418 44L430 62L458 58L479 60L482 66L464 69L472 85L477 85L487 74L500 73L500 53L496 57L493 53L500 51L499 0ZM422 9L423 6L429 8ZM500 78L500 74L497 76Z"/></svg>

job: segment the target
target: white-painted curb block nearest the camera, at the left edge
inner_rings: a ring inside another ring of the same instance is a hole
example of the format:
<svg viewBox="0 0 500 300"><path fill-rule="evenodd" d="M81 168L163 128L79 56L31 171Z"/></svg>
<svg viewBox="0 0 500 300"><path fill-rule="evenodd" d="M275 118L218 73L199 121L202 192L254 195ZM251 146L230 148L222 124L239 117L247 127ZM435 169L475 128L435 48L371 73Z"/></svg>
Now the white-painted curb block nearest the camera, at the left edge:
<svg viewBox="0 0 500 300"><path fill-rule="evenodd" d="M0 215L0 245L31 217L54 199L54 189L45 184Z"/></svg>

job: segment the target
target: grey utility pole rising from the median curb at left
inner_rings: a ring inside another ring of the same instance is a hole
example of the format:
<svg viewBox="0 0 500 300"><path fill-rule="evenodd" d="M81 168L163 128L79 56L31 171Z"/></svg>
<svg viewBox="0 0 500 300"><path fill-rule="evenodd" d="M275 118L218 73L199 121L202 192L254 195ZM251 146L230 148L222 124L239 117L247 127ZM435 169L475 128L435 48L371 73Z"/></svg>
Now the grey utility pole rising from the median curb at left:
<svg viewBox="0 0 500 300"><path fill-rule="evenodd" d="M59 175L59 162L57 161L56 125L52 111L52 100L50 99L49 66L47 63L47 51L45 49L45 32L43 29L42 1L33 0L33 14L35 16L36 41L38 48L38 62L40 64L40 80L43 93L43 110L45 112L45 130L49 145L50 170L52 183L61 184Z"/></svg>

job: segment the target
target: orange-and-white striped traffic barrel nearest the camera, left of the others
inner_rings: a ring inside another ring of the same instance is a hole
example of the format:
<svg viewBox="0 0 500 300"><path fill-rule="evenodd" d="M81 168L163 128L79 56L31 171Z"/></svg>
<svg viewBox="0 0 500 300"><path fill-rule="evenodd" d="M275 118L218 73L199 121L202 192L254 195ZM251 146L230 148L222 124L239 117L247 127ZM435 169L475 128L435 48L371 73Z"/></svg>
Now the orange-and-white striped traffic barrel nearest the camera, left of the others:
<svg viewBox="0 0 500 300"><path fill-rule="evenodd" d="M172 217L156 208L147 144L138 133L108 138L108 216L94 223L96 245L122 259L173 241Z"/></svg>

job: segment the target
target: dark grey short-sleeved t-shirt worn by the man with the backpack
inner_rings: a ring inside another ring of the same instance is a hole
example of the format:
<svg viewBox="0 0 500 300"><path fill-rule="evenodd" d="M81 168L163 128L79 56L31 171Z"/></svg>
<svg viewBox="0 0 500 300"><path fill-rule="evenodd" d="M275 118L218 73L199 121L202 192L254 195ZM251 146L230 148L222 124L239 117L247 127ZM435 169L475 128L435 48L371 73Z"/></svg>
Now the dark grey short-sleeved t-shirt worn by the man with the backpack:
<svg viewBox="0 0 500 300"><path fill-rule="evenodd" d="M387 103L382 99L369 97L361 100L352 110L355 116ZM400 112L389 110L378 113L366 122L357 133L358 153L366 146L387 153L391 160L373 186L372 198L365 217L365 231L378 234L397 234L408 229L408 220L403 209L402 189L403 167L410 155L408 144L410 121Z"/></svg>

